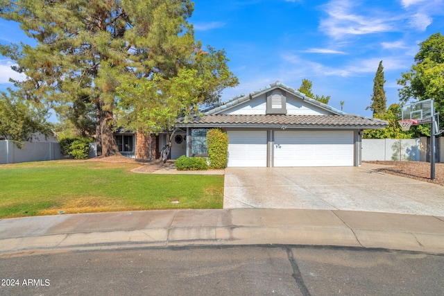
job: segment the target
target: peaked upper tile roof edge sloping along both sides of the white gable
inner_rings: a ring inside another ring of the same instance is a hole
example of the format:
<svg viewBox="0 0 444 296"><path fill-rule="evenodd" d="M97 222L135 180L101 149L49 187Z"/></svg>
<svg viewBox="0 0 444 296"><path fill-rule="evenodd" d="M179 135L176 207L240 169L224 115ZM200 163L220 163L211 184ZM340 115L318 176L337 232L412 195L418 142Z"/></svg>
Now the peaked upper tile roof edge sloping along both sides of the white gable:
<svg viewBox="0 0 444 296"><path fill-rule="evenodd" d="M284 83L281 83L279 81L276 81L274 83L271 83L271 85L267 85L266 87L263 87L262 89L257 89L257 91L252 92L248 95L245 94L239 94L238 96L234 96L233 98L230 98L227 101L223 101L222 103L219 103L216 107L208 110L204 110L203 114L210 115L210 114L217 114L225 109L228 109L230 107L233 107L235 105L239 105L240 103L243 103L245 101L251 100L253 97L262 94L263 92L269 92L271 89L274 89L276 87L280 87L282 89L287 90L287 92L294 94L301 98L303 101L308 102L312 105L317 105L318 107L321 107L325 110L329 110L330 112L333 112L335 114L345 114L341 110L337 110L336 108L326 105L324 103L321 103L319 101L316 101L314 98L309 98L308 96L305 96L302 92L298 92L296 89L293 89L293 87L289 87L288 85L284 85Z"/></svg>

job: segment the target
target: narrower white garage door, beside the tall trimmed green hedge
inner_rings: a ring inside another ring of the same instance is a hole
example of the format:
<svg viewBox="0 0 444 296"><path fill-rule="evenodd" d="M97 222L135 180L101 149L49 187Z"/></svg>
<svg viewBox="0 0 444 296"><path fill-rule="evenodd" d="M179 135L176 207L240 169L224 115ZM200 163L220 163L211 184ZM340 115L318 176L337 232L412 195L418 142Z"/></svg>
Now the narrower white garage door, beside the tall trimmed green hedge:
<svg viewBox="0 0 444 296"><path fill-rule="evenodd" d="M266 131L228 131L228 166L266 166Z"/></svg>

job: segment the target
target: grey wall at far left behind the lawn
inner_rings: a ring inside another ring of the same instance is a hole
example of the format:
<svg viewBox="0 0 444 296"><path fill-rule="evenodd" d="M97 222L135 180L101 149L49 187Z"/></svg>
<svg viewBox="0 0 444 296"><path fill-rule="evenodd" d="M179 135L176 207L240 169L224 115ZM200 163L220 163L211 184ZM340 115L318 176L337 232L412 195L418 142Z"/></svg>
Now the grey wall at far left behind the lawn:
<svg viewBox="0 0 444 296"><path fill-rule="evenodd" d="M65 159L60 152L60 143L58 142L24 142L23 148L19 149L12 141L0 141L0 164L40 162L54 159Z"/></svg>

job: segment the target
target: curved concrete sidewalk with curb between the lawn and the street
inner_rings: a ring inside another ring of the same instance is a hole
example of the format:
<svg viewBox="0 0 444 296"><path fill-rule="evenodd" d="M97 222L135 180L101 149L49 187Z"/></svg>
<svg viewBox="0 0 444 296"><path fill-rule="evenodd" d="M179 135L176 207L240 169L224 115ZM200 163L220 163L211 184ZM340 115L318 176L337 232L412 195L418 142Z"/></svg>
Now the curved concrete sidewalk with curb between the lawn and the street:
<svg viewBox="0 0 444 296"><path fill-rule="evenodd" d="M444 254L444 217L318 209L213 209L0 220L0 256L54 250L257 244Z"/></svg>

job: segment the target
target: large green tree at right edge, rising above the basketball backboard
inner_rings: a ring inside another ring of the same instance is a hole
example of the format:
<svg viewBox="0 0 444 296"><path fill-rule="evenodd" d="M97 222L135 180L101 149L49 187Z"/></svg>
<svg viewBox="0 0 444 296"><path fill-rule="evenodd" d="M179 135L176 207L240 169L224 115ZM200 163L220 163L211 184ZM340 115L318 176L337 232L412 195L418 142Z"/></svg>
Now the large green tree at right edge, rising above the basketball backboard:
<svg viewBox="0 0 444 296"><path fill-rule="evenodd" d="M421 42L415 64L398 79L400 101L435 99L435 109L444 112L444 36L431 35Z"/></svg>

